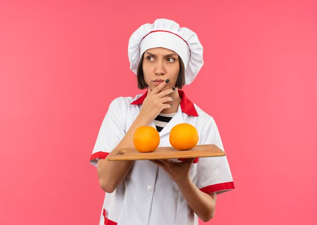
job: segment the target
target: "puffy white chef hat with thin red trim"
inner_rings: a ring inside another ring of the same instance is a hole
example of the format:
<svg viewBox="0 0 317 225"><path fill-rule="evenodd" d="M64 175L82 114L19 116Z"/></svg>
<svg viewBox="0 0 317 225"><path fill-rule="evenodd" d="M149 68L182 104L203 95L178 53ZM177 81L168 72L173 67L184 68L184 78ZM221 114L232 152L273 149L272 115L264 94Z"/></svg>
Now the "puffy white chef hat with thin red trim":
<svg viewBox="0 0 317 225"><path fill-rule="evenodd" d="M185 66L185 85L190 84L202 68L203 46L196 33L168 19L140 26L130 37L128 55L130 69L136 74L142 54L151 48L166 48L176 52Z"/></svg>

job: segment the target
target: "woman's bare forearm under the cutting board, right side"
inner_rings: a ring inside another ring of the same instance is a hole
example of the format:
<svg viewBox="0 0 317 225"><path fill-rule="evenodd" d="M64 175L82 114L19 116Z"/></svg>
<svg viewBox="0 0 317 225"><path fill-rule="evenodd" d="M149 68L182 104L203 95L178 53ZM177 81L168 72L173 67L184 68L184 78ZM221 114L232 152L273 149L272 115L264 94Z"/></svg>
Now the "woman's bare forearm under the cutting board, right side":
<svg viewBox="0 0 317 225"><path fill-rule="evenodd" d="M182 192L189 207L199 216L204 222L210 220L216 209L216 194L214 199L196 187L196 185L186 178L178 183L179 189Z"/></svg>

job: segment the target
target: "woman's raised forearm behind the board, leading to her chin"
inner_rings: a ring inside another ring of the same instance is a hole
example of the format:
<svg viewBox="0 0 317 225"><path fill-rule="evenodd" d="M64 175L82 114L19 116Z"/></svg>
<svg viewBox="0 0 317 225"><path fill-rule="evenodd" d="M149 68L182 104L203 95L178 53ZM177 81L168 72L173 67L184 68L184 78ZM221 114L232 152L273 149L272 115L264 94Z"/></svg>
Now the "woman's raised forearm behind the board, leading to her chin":
<svg viewBox="0 0 317 225"><path fill-rule="evenodd" d="M137 117L127 131L121 142L114 148L132 148L133 135L135 130L140 126L147 126L150 122ZM108 161L100 159L98 161L97 170L99 175L99 183L101 188L108 193L113 192L116 187L123 182L129 173L134 161Z"/></svg>

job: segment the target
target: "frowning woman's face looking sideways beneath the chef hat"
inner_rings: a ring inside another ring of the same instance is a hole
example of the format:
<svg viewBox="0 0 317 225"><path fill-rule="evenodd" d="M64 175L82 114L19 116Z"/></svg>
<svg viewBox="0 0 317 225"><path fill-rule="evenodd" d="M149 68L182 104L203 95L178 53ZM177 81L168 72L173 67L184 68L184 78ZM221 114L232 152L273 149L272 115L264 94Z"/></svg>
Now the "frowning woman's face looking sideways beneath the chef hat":
<svg viewBox="0 0 317 225"><path fill-rule="evenodd" d="M143 75L147 86L153 90L169 79L164 89L175 87L179 73L179 59L176 52L165 48L153 48L144 52Z"/></svg>

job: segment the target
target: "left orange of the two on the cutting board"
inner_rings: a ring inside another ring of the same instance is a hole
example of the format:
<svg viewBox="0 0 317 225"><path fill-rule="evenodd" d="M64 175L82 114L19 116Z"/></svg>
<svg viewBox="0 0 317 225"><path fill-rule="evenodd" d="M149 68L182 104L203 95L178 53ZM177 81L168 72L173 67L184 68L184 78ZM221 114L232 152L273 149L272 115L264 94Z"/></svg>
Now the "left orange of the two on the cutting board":
<svg viewBox="0 0 317 225"><path fill-rule="evenodd" d="M133 135L133 143L141 153L153 152L160 144L160 134L154 127L138 127Z"/></svg>

